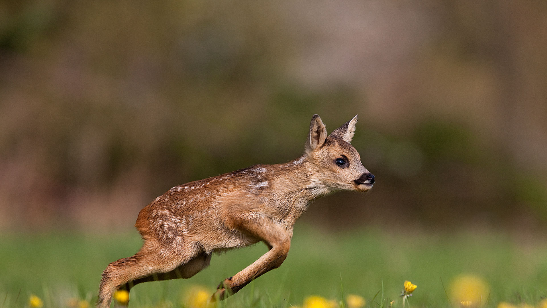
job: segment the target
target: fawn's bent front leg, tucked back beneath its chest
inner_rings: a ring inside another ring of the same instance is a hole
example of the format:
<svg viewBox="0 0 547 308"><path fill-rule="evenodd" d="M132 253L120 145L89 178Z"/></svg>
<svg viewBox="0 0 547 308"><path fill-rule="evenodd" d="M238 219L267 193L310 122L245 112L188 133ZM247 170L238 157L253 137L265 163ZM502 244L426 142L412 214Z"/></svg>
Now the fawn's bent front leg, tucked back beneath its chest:
<svg viewBox="0 0 547 308"><path fill-rule="evenodd" d="M262 216L251 218L246 215L236 216L234 219L236 221L231 221L231 223L237 227L237 230L261 239L271 248L269 252L254 261L253 264L220 282L217 292L211 298L212 301L223 300L245 287L254 278L276 269L283 263L289 253L289 233L271 219Z"/></svg>

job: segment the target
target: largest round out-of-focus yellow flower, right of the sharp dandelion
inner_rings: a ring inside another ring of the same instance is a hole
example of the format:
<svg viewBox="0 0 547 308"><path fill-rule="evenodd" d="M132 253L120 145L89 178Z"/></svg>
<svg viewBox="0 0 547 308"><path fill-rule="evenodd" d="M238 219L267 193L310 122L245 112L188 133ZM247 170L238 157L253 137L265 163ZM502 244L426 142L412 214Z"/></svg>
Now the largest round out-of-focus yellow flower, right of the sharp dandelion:
<svg viewBox="0 0 547 308"><path fill-rule="evenodd" d="M456 277L451 285L452 298L456 303L471 301L475 306L480 306L488 296L488 286L484 280L474 275L461 275Z"/></svg>

